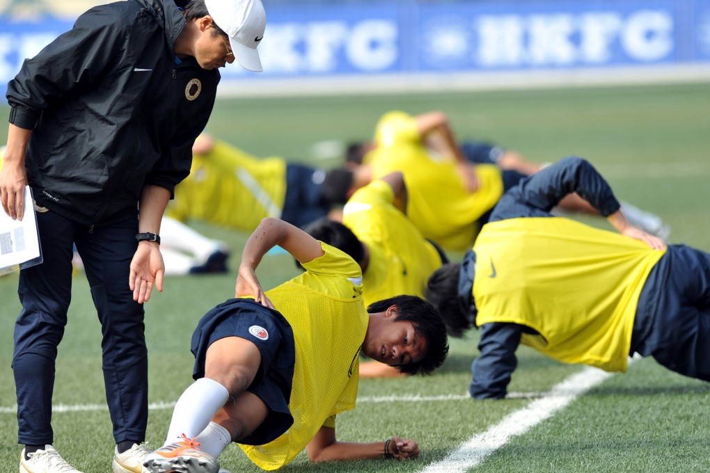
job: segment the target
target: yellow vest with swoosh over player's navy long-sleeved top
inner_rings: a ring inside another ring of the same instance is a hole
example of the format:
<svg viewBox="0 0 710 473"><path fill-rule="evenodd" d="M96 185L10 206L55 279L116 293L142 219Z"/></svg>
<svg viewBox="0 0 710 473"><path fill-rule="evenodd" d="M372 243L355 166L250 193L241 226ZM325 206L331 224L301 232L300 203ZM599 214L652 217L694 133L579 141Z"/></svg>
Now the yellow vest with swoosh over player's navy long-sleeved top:
<svg viewBox="0 0 710 473"><path fill-rule="evenodd" d="M566 218L488 223L474 245L476 323L533 328L521 343L626 371L638 297L665 251Z"/></svg>

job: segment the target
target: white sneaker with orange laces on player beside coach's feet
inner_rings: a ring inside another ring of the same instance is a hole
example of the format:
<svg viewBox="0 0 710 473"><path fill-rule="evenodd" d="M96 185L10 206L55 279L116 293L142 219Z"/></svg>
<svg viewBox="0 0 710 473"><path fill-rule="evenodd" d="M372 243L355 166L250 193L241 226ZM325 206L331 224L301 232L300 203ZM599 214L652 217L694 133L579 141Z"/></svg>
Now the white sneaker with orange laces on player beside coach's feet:
<svg viewBox="0 0 710 473"><path fill-rule="evenodd" d="M182 435L181 442L158 448L143 465L151 473L218 473L219 462L200 450L200 443Z"/></svg>

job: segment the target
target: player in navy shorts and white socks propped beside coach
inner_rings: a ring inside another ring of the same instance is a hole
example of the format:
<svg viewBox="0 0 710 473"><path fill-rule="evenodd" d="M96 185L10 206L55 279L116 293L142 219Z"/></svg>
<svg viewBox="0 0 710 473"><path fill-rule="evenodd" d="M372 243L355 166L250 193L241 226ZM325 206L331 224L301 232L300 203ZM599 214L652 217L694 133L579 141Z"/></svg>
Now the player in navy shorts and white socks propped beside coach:
<svg viewBox="0 0 710 473"><path fill-rule="evenodd" d="M275 245L306 272L265 292L255 270ZM146 467L217 472L217 457L233 441L263 469L282 467L304 447L313 461L417 457L417 442L396 435L336 439L335 416L355 407L361 351L410 374L429 374L448 352L444 322L430 304L397 296L366 311L361 282L359 265L344 252L265 218L244 247L236 299L197 325L196 381Z"/></svg>

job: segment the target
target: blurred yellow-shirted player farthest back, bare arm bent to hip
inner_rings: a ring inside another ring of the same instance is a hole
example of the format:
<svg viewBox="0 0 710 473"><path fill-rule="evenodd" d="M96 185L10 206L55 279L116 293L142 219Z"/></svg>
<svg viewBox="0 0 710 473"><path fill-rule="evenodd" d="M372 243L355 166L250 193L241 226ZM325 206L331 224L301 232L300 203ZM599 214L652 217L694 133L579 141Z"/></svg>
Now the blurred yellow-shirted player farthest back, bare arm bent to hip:
<svg viewBox="0 0 710 473"><path fill-rule="evenodd" d="M362 162L371 167L373 179L403 172L411 221L444 250L461 252L474 242L503 193L540 169L518 153L474 143L459 146L447 116L437 111L388 112L378 121L373 142L351 149L356 161L353 150L364 153ZM565 196L559 209L598 214L576 194ZM667 236L657 216L631 206L627 213L636 225Z"/></svg>

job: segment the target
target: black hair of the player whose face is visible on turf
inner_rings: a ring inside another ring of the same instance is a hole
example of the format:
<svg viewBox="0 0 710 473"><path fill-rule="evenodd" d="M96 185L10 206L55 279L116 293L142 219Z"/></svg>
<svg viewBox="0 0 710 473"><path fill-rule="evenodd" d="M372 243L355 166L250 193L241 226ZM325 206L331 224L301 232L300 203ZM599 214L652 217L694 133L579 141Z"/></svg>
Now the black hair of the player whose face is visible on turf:
<svg viewBox="0 0 710 473"><path fill-rule="evenodd" d="M440 367L449 352L446 327L437 309L417 296L395 296L371 304L368 313L384 312L391 306L397 306L395 321L411 322L417 335L427 340L427 354L422 360L400 365L401 373L431 374Z"/></svg>

